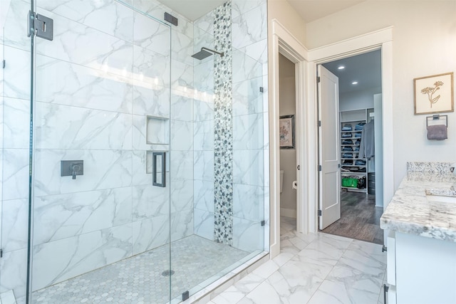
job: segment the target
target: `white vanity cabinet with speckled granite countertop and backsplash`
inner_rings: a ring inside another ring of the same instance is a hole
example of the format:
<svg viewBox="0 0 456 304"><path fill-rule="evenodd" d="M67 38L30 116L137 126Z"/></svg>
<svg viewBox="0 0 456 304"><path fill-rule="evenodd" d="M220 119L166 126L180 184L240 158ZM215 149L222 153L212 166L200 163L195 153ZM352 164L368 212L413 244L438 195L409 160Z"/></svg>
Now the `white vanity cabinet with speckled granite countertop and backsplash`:
<svg viewBox="0 0 456 304"><path fill-rule="evenodd" d="M380 217L388 231L385 304L456 304L456 177L446 162L408 162Z"/></svg>

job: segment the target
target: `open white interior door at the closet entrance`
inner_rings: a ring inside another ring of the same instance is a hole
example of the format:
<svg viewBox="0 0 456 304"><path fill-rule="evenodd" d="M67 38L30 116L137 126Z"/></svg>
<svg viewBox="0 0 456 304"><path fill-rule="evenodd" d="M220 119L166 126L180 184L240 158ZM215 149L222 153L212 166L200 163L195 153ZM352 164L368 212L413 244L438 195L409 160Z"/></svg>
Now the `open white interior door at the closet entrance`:
<svg viewBox="0 0 456 304"><path fill-rule="evenodd" d="M341 218L341 153L339 151L339 85L336 75L318 65L319 229Z"/></svg>

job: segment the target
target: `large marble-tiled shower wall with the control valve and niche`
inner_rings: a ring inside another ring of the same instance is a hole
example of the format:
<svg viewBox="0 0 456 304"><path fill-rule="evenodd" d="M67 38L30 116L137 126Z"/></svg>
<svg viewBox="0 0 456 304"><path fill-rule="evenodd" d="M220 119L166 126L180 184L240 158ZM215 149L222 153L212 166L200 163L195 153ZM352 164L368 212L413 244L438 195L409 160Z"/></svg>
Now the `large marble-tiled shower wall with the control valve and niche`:
<svg viewBox="0 0 456 304"><path fill-rule="evenodd" d="M36 43L33 290L161 246L169 229L171 240L193 234L192 23L178 16L170 35L119 1L92 2L36 1L56 26L53 41ZM156 1L127 2L157 19L172 13ZM29 6L11 0L1 33L0 292L18 298L26 282ZM171 191L150 187L145 173L146 150L167 148L146 145L145 115L170 120ZM61 159L84 159L84 176L60 177Z"/></svg>

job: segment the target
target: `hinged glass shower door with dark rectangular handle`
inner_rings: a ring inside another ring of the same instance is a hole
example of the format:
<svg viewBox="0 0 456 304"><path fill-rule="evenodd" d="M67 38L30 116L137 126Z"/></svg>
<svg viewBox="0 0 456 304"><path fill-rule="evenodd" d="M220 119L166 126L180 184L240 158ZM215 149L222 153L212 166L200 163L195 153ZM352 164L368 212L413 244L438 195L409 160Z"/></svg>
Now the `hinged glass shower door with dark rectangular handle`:
<svg viewBox="0 0 456 304"><path fill-rule="evenodd" d="M170 300L170 26L38 0L31 302Z"/></svg>

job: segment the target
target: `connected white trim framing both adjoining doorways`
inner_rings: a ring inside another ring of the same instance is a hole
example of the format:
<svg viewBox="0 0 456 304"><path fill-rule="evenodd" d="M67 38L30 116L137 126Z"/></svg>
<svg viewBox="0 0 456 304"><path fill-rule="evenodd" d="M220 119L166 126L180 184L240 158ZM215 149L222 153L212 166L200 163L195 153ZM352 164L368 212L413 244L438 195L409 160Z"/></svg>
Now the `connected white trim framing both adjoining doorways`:
<svg viewBox="0 0 456 304"><path fill-rule="evenodd" d="M269 253L280 253L279 53L295 63L297 230L318 230L318 127L316 65L381 48L383 111L383 210L394 194L393 172L393 26L307 50L279 21L269 21ZM299 119L301 118L301 119ZM385 147L390 147L386 150ZM386 238L385 238L386 240Z"/></svg>

